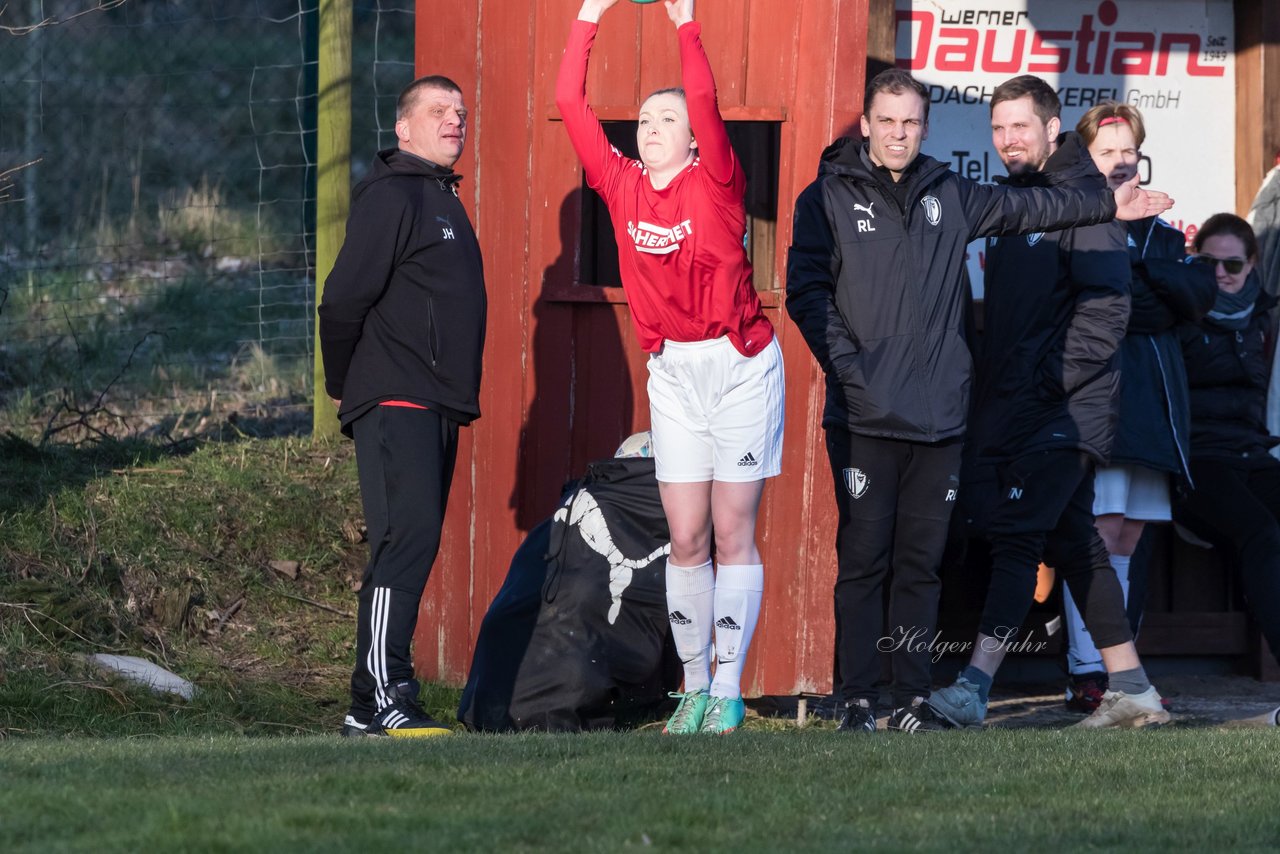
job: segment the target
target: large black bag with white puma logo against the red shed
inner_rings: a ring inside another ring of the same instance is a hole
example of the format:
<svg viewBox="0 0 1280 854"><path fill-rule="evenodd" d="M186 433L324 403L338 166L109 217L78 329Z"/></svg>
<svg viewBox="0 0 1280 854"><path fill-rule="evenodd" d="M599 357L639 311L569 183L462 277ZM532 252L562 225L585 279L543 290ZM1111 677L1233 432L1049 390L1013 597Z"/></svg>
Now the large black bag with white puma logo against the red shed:
<svg viewBox="0 0 1280 854"><path fill-rule="evenodd" d="M669 539L652 458L589 465L516 551L480 624L458 720L486 731L654 720L682 676Z"/></svg>

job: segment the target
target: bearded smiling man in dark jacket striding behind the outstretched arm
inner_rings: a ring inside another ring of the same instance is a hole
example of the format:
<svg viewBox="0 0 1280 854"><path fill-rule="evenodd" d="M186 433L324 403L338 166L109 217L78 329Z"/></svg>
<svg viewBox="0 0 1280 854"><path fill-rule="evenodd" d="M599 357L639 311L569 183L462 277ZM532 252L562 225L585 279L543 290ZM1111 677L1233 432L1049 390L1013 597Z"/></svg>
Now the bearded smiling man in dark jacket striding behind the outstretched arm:
<svg viewBox="0 0 1280 854"><path fill-rule="evenodd" d="M1020 187L1106 187L1075 133L1059 137L1060 105L1038 77L992 96L992 140ZM1030 609L1043 558L1064 577L1111 690L1079 726L1169 720L1146 677L1124 594L1093 520L1093 467L1111 453L1129 321L1129 254L1117 223L1021 238L987 248L986 330L969 442L997 467L987 534L991 585L969 667L929 704L952 723L982 723L987 691Z"/></svg>

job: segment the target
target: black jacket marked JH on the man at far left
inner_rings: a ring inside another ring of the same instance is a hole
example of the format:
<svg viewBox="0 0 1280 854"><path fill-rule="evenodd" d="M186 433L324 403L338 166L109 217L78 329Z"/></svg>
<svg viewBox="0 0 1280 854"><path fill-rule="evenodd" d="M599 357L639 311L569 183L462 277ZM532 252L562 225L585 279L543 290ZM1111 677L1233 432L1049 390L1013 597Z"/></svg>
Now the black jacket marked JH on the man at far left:
<svg viewBox="0 0 1280 854"><path fill-rule="evenodd" d="M486 296L461 178L411 154L379 151L352 192L347 238L325 279L325 391L343 433L383 401L480 416Z"/></svg>

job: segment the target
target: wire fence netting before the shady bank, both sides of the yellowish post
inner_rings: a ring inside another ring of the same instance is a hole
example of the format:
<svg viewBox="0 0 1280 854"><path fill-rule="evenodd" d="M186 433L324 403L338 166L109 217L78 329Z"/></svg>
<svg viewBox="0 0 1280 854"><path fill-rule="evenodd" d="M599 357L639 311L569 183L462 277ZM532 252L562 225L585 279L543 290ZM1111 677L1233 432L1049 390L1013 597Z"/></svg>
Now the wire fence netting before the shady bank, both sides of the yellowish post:
<svg viewBox="0 0 1280 854"><path fill-rule="evenodd" d="M311 421L317 0L0 1L0 433ZM413 0L356 0L352 168Z"/></svg>

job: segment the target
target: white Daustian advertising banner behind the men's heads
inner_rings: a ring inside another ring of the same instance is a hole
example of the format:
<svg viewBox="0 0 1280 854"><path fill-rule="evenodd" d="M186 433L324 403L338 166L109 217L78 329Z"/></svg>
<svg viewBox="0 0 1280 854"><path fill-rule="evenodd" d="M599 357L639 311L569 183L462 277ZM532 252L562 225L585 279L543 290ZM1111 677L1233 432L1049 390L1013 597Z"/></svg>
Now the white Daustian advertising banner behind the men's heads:
<svg viewBox="0 0 1280 854"><path fill-rule="evenodd" d="M1165 219L1194 233L1235 207L1231 0L897 0L897 64L929 90L923 151L975 181L1004 175L991 95L1036 74L1062 101L1062 129L1100 101L1142 110L1143 186L1176 201ZM969 247L982 297L983 248Z"/></svg>

